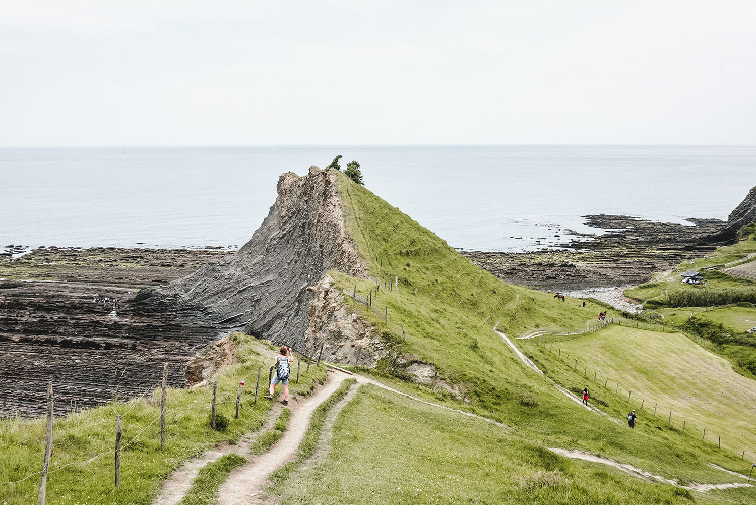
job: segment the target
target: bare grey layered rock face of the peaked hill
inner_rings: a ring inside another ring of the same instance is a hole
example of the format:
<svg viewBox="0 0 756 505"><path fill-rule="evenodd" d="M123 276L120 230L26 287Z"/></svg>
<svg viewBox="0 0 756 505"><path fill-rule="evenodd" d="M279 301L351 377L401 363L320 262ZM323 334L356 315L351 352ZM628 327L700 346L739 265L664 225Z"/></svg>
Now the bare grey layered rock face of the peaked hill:
<svg viewBox="0 0 756 505"><path fill-rule="evenodd" d="M318 167L306 176L284 173L268 217L236 254L140 291L138 302L200 313L203 323L219 330L240 330L308 354L324 344L324 357L348 360L374 340L366 323L339 308L342 295L327 278L329 270L367 275L345 229L336 177ZM378 346L363 356L374 356Z"/></svg>

